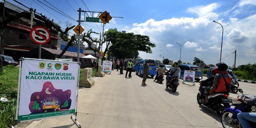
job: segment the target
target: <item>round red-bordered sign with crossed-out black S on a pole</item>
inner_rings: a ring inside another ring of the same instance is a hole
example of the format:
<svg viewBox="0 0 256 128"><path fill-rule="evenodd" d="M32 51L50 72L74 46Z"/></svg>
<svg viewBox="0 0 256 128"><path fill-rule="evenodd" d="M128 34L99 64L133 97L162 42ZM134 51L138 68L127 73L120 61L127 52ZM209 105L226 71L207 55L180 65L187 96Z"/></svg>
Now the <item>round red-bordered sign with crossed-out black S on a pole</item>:
<svg viewBox="0 0 256 128"><path fill-rule="evenodd" d="M39 45L48 43L51 39L51 33L45 27L33 27L29 33L30 39Z"/></svg>

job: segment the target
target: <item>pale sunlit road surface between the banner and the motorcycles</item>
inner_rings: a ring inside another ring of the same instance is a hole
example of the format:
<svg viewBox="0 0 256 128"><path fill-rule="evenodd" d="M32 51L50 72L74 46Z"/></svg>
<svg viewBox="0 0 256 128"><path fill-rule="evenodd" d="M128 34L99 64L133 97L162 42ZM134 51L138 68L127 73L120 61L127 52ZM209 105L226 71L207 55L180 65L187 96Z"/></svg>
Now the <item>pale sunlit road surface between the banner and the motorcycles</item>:
<svg viewBox="0 0 256 128"><path fill-rule="evenodd" d="M198 105L198 82L193 86L180 80L174 93L149 77L148 85L141 86L143 78L134 72L132 75L129 79L114 71L97 77L91 88L79 90L77 121L82 128L222 128L215 111ZM256 93L256 84L239 83L245 93ZM237 95L230 94L230 97ZM63 116L35 121L27 128L77 126L70 116Z"/></svg>

